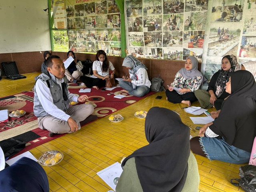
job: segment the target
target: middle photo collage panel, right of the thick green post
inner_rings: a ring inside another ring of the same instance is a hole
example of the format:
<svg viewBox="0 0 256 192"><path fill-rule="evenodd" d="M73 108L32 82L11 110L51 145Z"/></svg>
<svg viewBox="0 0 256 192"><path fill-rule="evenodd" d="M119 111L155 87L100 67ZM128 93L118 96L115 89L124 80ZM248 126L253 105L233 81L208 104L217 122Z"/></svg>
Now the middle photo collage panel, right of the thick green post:
<svg viewBox="0 0 256 192"><path fill-rule="evenodd" d="M202 61L208 0L125 0L126 46L141 58Z"/></svg>

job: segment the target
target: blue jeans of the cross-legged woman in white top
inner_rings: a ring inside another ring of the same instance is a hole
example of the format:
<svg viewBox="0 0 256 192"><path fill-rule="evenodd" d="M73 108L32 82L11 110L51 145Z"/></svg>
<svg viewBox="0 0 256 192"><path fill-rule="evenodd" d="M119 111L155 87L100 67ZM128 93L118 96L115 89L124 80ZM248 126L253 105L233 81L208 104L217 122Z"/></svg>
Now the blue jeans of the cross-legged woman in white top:
<svg viewBox="0 0 256 192"><path fill-rule="evenodd" d="M150 88L148 86L144 86L144 85L136 86L136 89L134 89L134 88L132 88L131 82L127 82L122 79L119 81L119 85L123 89L127 90L128 94L134 95L136 97L142 97L150 91Z"/></svg>

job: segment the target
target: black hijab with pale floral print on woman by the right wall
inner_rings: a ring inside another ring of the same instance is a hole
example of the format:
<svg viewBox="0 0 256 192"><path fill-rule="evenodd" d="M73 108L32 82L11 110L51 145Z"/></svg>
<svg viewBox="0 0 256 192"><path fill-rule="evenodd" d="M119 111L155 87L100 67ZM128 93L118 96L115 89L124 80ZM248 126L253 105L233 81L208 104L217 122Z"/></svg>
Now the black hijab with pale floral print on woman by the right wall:
<svg viewBox="0 0 256 192"><path fill-rule="evenodd" d="M219 73L219 76L218 76L218 78L216 80L216 83L215 83L215 86L216 86L215 95L217 96L217 98L219 98L222 95L222 93L224 92L226 82L228 82L230 74L235 71L235 69L238 65L236 56L226 55L222 58L222 60L224 58L227 58L229 60L231 68L228 71L224 71L222 68L219 70L220 73Z"/></svg>

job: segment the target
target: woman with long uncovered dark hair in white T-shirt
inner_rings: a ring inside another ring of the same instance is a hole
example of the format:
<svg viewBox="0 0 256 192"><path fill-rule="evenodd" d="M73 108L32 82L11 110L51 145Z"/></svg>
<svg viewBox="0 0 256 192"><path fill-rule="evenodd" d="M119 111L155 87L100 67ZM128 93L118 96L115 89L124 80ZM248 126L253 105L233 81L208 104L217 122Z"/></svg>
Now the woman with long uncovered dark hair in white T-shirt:
<svg viewBox="0 0 256 192"><path fill-rule="evenodd" d="M111 75L109 75L109 70L112 70ZM92 71L96 78L81 76L80 80L86 85L88 88L99 89L99 87L106 86L107 78L114 78L114 74L116 72L113 64L108 61L107 55L104 50L98 50L96 54L96 61L92 64Z"/></svg>

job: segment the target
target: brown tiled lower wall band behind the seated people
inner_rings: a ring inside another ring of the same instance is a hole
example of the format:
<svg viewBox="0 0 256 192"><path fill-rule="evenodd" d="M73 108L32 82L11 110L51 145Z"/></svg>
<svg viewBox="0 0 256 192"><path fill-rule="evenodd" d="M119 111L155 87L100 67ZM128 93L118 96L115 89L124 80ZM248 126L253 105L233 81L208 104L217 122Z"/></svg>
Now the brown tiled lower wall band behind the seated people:
<svg viewBox="0 0 256 192"><path fill-rule="evenodd" d="M41 64L44 61L43 52L20 52L20 53L4 53L0 54L0 68L2 70L2 62L15 61L20 74L32 73L41 71ZM53 52L61 59L67 58L66 52ZM92 62L95 60L95 54L75 53L78 60L86 60L87 58ZM108 56L114 67L116 68L116 77L122 77L128 73L125 67L122 67L124 58L117 56ZM148 77L150 80L158 74L164 80L164 86L173 81L175 74L184 67L184 61L169 61L156 59L139 59L148 68ZM201 63L198 69L200 70ZM3 70L2 70L3 71Z"/></svg>

